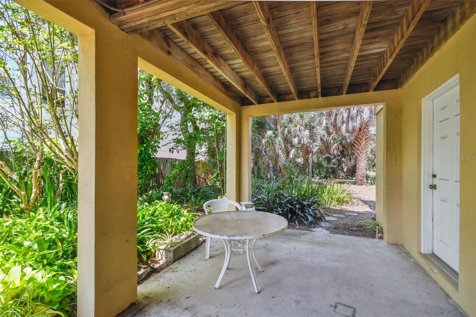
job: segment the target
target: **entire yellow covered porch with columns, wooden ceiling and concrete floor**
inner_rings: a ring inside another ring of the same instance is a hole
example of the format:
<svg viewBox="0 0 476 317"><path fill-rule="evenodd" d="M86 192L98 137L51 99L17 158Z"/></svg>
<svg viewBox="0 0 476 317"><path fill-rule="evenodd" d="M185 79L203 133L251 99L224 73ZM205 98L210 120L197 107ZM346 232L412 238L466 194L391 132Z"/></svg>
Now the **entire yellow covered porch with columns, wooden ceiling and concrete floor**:
<svg viewBox="0 0 476 317"><path fill-rule="evenodd" d="M476 1L15 1L79 38L79 316L115 316L138 299L126 316L462 315L449 297L476 314ZM215 272L203 270L222 265L218 248L138 288L138 67L227 114L236 201L251 199L252 117L373 106L385 242L296 231L263 240L258 295L239 257L213 289ZM456 280L423 247L431 174L421 166L422 99L455 75L459 157L473 158L458 170Z"/></svg>

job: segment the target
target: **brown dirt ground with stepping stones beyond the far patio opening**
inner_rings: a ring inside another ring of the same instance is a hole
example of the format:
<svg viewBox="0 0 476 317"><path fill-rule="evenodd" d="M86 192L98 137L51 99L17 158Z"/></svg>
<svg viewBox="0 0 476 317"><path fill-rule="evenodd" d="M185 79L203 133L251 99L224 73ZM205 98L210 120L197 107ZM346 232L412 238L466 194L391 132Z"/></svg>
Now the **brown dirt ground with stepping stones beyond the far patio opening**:
<svg viewBox="0 0 476 317"><path fill-rule="evenodd" d="M357 222L371 219L375 213L375 186L346 186L347 190L353 196L352 203L342 207L324 209L330 217L337 218L337 220L326 220L325 222L329 224L328 226L319 224L313 226L300 225L299 228L296 228L295 224L290 223L288 228L305 231L313 231L311 230L313 228L323 228L330 233L338 235L375 238L375 231L356 227ZM357 216L346 215L346 213L354 213L357 214ZM342 215L344 217L335 217L332 214ZM382 233L381 228L379 229L379 233Z"/></svg>

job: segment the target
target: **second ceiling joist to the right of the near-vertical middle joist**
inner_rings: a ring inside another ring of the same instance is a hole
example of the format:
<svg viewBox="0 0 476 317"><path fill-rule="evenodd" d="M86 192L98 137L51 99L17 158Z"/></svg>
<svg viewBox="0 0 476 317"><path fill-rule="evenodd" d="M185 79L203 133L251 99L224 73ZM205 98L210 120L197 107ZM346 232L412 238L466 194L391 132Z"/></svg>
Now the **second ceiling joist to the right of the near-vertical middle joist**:
<svg viewBox="0 0 476 317"><path fill-rule="evenodd" d="M370 91L374 90L378 81L388 69L388 66L390 66L395 56L397 56L398 51L402 48L405 40L407 40L415 25L417 25L417 22L425 11L428 3L430 3L430 0L413 0L410 4L410 8L408 9L407 13L405 13L402 23L398 27L397 32L390 42L390 45L388 45L384 56L378 63L377 69L375 69L375 72L370 79Z"/></svg>

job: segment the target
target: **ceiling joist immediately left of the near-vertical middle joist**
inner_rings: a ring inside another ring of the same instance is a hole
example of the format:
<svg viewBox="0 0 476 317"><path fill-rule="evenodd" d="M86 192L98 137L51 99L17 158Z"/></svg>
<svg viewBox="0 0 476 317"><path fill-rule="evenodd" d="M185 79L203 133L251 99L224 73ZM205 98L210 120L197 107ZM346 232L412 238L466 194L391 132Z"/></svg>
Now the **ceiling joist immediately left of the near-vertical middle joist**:
<svg viewBox="0 0 476 317"><path fill-rule="evenodd" d="M255 5L255 9L258 12L259 20L261 20L261 24L263 25L266 36L268 37L268 40L271 44L271 48L276 55L276 59L278 59L278 64L283 71L284 77L288 82L289 88L291 89L294 98L297 100L299 99L299 96L296 83L294 82L293 75L289 69L288 60L284 54L283 47L279 42L278 32L274 26L271 12L269 12L268 3L266 1L253 1L253 4Z"/></svg>

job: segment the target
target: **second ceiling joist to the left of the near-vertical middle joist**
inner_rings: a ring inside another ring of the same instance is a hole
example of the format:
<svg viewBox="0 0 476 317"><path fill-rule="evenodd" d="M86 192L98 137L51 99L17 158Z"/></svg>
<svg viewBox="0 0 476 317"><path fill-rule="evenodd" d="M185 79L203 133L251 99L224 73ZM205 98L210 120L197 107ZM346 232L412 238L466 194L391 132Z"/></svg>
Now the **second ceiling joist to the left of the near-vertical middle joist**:
<svg viewBox="0 0 476 317"><path fill-rule="evenodd" d="M274 101L278 102L278 95L266 80L263 71L259 68L258 63L251 56L245 44L240 40L237 31L233 28L230 21L221 10L210 12L207 14L208 18L213 22L217 30L228 41L230 46L235 50L238 57L243 61L248 70L255 76L256 80L263 86Z"/></svg>

